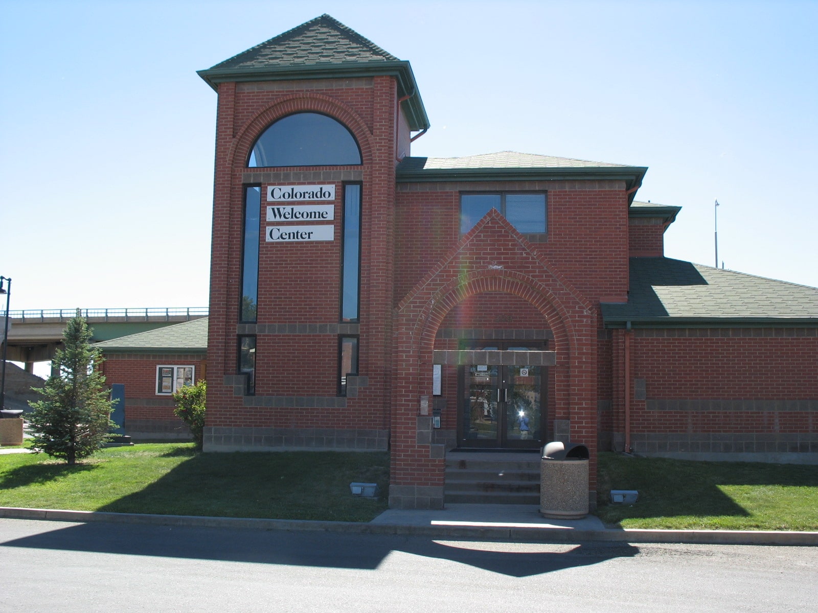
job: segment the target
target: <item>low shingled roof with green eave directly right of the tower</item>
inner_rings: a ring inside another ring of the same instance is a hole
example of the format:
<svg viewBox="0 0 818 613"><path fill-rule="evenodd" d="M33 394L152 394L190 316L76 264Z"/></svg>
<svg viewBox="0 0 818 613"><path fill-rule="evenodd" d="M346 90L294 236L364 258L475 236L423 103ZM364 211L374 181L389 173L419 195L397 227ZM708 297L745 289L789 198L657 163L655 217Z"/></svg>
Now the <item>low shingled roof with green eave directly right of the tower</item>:
<svg viewBox="0 0 818 613"><path fill-rule="evenodd" d="M462 158L412 158L401 160L398 182L416 181L537 181L613 179L625 181L631 190L642 183L647 168L553 155L498 151ZM633 199L635 190L631 191Z"/></svg>

